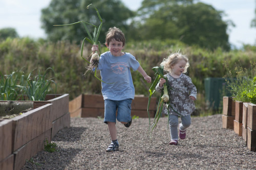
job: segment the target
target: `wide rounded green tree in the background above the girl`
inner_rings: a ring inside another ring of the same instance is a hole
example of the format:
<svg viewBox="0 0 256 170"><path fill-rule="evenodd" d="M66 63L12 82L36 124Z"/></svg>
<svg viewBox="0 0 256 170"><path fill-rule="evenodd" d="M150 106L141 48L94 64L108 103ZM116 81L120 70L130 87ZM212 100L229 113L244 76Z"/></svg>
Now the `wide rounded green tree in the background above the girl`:
<svg viewBox="0 0 256 170"><path fill-rule="evenodd" d="M144 0L134 21L140 39L179 39L188 45L230 49L222 11L193 0ZM143 22L141 22L143 20Z"/></svg>

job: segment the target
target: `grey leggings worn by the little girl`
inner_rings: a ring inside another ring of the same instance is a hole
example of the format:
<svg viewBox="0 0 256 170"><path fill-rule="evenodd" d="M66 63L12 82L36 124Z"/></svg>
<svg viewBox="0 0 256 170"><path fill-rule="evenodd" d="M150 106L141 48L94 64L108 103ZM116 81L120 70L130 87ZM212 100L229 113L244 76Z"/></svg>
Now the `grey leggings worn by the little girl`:
<svg viewBox="0 0 256 170"><path fill-rule="evenodd" d="M169 127L170 127L170 138L172 140L178 140L178 116L174 114L169 115ZM180 130L184 131L186 128L188 128L191 124L191 117L190 115L182 116L181 117L181 123L180 123Z"/></svg>

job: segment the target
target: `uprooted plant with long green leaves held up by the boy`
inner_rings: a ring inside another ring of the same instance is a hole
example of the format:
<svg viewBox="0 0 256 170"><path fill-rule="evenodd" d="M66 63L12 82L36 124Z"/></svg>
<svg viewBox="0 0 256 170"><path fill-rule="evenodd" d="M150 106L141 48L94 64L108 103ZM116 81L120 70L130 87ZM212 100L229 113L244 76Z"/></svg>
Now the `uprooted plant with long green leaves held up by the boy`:
<svg viewBox="0 0 256 170"><path fill-rule="evenodd" d="M92 4L88 5L88 6L87 6L87 9L89 9L90 6L93 6L93 5L92 5ZM94 6L93 6L93 7L94 7ZM97 51L94 52L94 53L92 53L92 54L88 57L88 59L91 57L90 62L82 56L82 54L83 54L83 45L84 45L84 42L85 42L85 41L88 41L89 43L91 43L91 44L93 44L93 45L98 45L99 52L100 52L100 41L98 41L98 38L99 38L99 34L100 34L100 31L101 31L101 28L102 28L102 18L101 18L100 14L99 14L98 9L95 8L95 7L94 7L94 9L96 10L97 15L98 15L98 18L99 18L99 20L100 20L100 25L99 25L98 27L95 26L95 25L93 25L92 23L89 23L89 22L86 22L86 21L77 21L77 22L69 23L69 24L65 24L65 25L54 25L54 26L71 26L71 25L75 25L75 24L77 24L77 23L82 23L84 29L86 29L86 32L87 32L89 38L88 38L88 37L85 37L85 38L83 39L83 41L82 41L82 45L81 45L81 58L82 58L84 61L86 61L87 63L89 63L88 70L93 70L93 71L94 71L94 77L95 77L96 79L98 79L99 81L103 82L101 79L99 79L99 78L96 76L96 74L97 74L97 66L98 66L99 55L100 55L100 54L98 54ZM90 26L93 26L93 27L94 27L94 32L92 33L92 35L91 35L90 31L88 30L87 25L90 25ZM87 70L87 71L88 71L88 70ZM86 71L86 72L87 72L87 71ZM84 72L84 75L86 75L86 72ZM104 82L104 83L105 83L105 82Z"/></svg>

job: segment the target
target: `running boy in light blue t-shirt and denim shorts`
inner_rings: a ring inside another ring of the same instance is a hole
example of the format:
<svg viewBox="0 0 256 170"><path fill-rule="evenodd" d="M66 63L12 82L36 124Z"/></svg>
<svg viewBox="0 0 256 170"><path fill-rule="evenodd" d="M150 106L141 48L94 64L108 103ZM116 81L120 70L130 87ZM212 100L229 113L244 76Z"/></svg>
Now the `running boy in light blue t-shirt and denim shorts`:
<svg viewBox="0 0 256 170"><path fill-rule="evenodd" d="M105 105L104 123L108 124L112 140L106 152L115 152L119 149L116 119L127 128L132 124L131 104L135 89L130 68L138 70L147 83L151 83L151 77L146 74L132 54L122 52L125 37L120 29L116 27L109 29L106 34L105 45L109 51L100 55L98 69L101 80L106 82L101 83ZM93 45L92 51L98 51L98 47Z"/></svg>

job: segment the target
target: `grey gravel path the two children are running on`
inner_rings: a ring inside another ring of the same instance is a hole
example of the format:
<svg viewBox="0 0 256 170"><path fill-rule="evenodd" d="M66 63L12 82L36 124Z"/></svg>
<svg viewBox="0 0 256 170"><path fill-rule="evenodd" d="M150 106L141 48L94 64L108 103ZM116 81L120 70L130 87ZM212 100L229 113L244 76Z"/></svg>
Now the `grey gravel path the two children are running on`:
<svg viewBox="0 0 256 170"><path fill-rule="evenodd" d="M167 117L160 118L152 138L148 118L134 119L130 128L116 125L119 151L106 153L111 141L103 119L71 118L71 127L52 139L58 152L39 152L22 169L256 169L256 152L222 128L220 114L193 117L178 145L169 145Z"/></svg>

